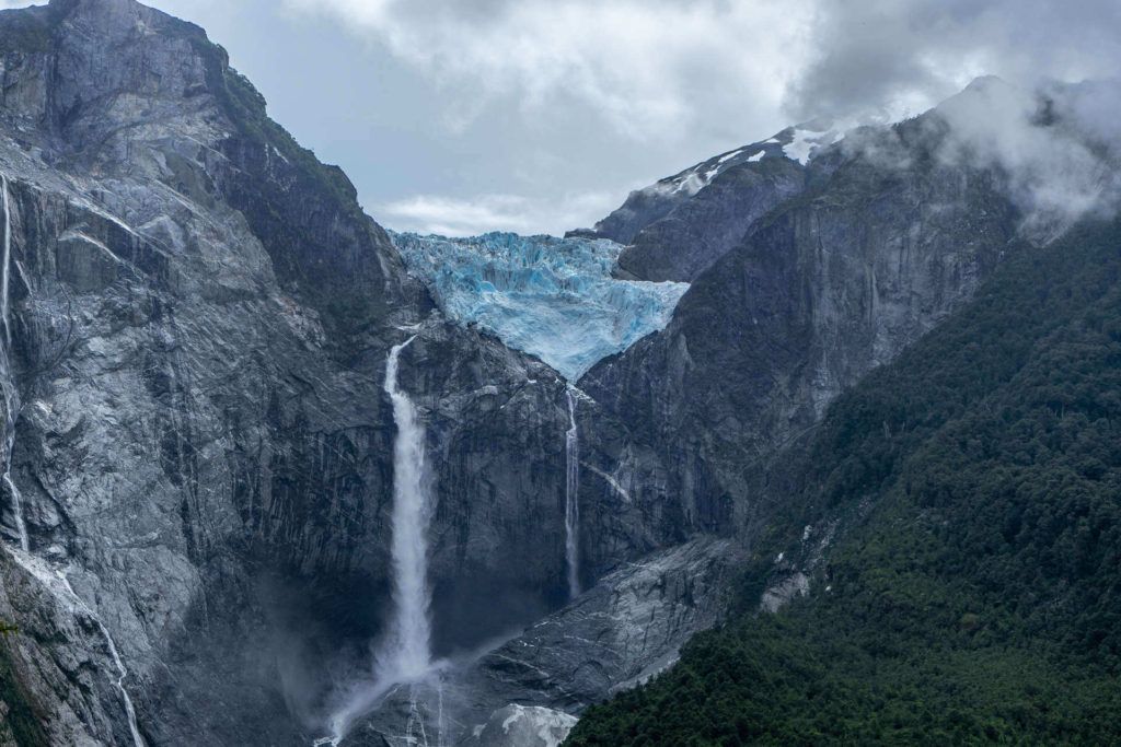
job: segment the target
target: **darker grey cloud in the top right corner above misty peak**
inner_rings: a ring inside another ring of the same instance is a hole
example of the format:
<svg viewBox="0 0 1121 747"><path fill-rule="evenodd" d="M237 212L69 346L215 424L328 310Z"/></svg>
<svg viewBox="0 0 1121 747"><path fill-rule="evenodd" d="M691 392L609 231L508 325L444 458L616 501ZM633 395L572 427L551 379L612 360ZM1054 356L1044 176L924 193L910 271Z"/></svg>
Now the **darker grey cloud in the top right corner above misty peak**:
<svg viewBox="0 0 1121 747"><path fill-rule="evenodd" d="M1021 86L1081 81L1121 65L1117 0L819 0L805 67L789 87L795 118L896 119L981 75Z"/></svg>

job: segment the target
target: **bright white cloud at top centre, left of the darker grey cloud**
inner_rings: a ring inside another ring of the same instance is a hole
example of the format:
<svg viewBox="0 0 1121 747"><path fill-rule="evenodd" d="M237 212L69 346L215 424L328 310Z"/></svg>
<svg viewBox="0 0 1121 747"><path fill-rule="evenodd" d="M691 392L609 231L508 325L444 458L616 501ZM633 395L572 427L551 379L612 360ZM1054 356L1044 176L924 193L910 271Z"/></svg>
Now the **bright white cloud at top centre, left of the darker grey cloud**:
<svg viewBox="0 0 1121 747"><path fill-rule="evenodd" d="M447 93L461 127L488 102L580 103L636 140L773 114L805 57L813 0L285 0L385 45ZM595 122L594 127L602 127Z"/></svg>

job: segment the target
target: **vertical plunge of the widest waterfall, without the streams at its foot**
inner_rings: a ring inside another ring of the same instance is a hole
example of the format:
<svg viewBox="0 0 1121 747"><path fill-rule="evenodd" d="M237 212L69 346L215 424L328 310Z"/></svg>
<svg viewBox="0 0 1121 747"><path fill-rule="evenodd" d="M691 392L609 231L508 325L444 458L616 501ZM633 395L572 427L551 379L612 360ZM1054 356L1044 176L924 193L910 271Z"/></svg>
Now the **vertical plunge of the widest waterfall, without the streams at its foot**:
<svg viewBox="0 0 1121 747"><path fill-rule="evenodd" d="M397 423L391 545L396 610L378 664L383 678L397 682L424 676L432 664L427 536L432 506L424 485L424 426L413 401L397 385L401 351L414 339L416 335L393 346L386 364L386 393Z"/></svg>

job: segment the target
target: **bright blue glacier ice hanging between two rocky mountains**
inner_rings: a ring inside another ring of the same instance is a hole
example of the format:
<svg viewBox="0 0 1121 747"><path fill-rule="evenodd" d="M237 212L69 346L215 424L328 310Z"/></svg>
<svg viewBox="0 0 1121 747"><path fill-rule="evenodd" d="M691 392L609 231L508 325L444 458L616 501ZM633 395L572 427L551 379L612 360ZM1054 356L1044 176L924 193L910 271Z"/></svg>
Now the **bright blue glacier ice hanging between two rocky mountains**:
<svg viewBox="0 0 1121 747"><path fill-rule="evenodd" d="M393 234L409 271L460 324L475 323L568 381L663 329L688 289L615 280L622 245L603 239Z"/></svg>

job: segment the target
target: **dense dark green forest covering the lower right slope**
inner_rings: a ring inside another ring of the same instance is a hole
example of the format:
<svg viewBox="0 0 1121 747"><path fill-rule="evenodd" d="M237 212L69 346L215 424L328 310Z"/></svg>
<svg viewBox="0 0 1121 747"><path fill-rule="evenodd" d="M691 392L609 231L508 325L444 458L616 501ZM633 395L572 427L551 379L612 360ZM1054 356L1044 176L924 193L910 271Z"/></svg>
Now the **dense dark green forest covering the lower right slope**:
<svg viewBox="0 0 1121 747"><path fill-rule="evenodd" d="M1117 224L1017 250L781 463L744 609L836 522L812 595L698 636L568 744L1121 744Z"/></svg>

